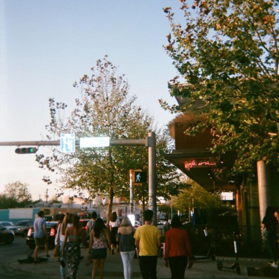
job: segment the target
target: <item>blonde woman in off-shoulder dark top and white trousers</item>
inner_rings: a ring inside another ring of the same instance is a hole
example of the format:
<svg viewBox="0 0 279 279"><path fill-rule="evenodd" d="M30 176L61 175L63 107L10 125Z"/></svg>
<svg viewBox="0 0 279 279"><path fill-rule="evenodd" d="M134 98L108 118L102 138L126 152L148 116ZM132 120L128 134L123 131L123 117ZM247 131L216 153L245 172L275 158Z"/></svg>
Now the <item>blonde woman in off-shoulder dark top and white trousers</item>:
<svg viewBox="0 0 279 279"><path fill-rule="evenodd" d="M132 261L135 255L135 228L128 217L124 217L117 231L120 255L123 262L124 278L132 278Z"/></svg>

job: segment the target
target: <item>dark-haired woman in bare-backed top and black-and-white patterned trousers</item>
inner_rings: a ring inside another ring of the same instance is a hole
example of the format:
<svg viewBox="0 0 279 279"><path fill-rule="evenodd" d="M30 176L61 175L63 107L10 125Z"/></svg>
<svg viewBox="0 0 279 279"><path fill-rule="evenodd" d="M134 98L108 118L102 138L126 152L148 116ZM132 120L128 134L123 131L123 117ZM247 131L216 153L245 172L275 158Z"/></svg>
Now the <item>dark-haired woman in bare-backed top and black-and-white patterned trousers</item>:
<svg viewBox="0 0 279 279"><path fill-rule="evenodd" d="M62 256L67 254L67 267L68 267L68 276L67 279L75 279L76 273L78 271L78 265L81 261L81 248L80 248L80 240L82 240L83 245L85 246L85 237L83 235L83 230L79 225L79 217L77 215L73 215L72 217L72 227L66 228L65 231L65 240L62 246ZM69 237L69 242L67 239Z"/></svg>

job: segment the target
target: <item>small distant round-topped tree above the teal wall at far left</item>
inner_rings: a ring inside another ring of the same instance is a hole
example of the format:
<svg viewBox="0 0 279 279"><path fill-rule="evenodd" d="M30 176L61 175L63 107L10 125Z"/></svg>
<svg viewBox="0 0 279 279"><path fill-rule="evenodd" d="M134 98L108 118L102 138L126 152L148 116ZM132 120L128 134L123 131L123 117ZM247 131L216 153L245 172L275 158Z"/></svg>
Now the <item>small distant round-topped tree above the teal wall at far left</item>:
<svg viewBox="0 0 279 279"><path fill-rule="evenodd" d="M5 187L5 196L16 200L18 203L28 204L32 202L32 196L28 191L28 184L19 181L8 183Z"/></svg>

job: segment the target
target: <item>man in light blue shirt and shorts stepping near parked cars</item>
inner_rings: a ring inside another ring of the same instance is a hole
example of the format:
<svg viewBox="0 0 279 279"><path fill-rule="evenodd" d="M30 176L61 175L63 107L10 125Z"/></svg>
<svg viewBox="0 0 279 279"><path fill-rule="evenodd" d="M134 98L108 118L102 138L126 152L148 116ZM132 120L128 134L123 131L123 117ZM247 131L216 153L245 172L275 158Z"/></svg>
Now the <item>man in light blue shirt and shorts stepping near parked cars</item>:
<svg viewBox="0 0 279 279"><path fill-rule="evenodd" d="M44 219L44 211L41 210L38 212L38 218L34 221L34 239L36 245L36 248L34 250L34 263L37 263L37 256L41 245L44 245L46 257L50 257L50 255L48 254L49 242L46 226L47 222Z"/></svg>

